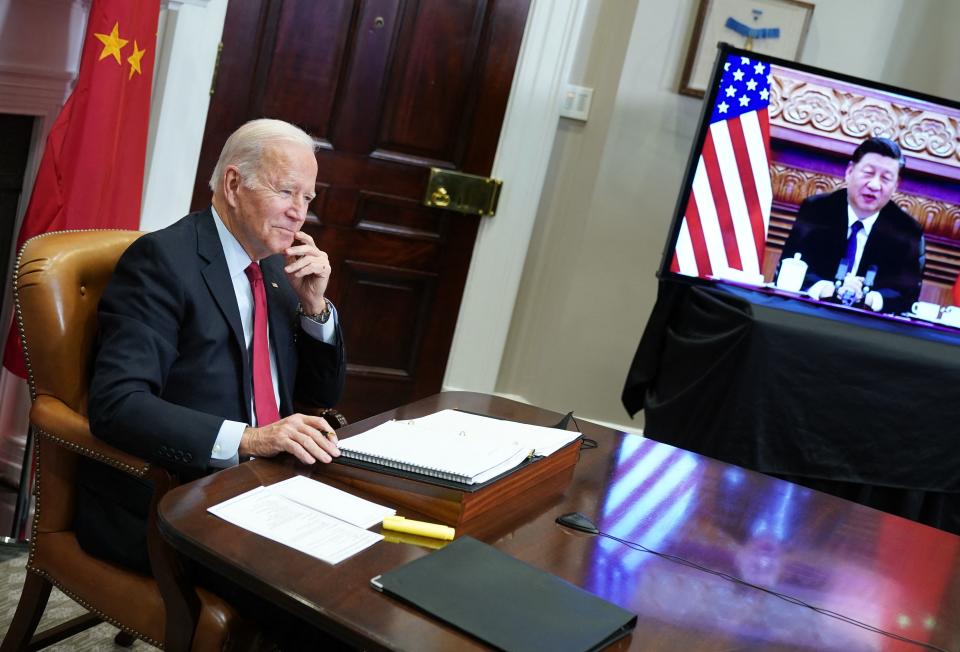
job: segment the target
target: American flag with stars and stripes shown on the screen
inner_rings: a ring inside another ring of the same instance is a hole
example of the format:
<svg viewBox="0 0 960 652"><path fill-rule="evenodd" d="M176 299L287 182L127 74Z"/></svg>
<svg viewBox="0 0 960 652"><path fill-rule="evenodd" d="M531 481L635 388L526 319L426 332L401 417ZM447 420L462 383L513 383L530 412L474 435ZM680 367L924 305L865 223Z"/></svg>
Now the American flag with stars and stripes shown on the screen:
<svg viewBox="0 0 960 652"><path fill-rule="evenodd" d="M727 57L670 269L687 276L762 272L770 223L770 66Z"/></svg>

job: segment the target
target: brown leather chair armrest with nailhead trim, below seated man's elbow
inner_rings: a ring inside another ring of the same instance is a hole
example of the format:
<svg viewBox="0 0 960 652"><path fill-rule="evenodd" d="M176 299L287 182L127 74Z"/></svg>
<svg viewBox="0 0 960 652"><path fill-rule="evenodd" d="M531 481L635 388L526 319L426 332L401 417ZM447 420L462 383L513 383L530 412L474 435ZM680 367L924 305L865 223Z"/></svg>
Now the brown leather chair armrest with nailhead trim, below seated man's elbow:
<svg viewBox="0 0 960 652"><path fill-rule="evenodd" d="M53 396L42 394L37 397L30 409L30 423L37 435L52 439L76 453L140 478L149 475L148 462L94 437L87 418Z"/></svg>

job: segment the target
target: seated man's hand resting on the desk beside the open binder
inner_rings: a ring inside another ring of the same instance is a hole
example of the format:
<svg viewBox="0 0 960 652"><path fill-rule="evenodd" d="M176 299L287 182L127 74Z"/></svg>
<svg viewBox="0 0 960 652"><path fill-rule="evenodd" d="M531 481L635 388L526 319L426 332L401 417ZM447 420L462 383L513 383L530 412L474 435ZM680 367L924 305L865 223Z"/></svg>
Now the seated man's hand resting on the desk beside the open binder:
<svg viewBox="0 0 960 652"><path fill-rule="evenodd" d="M326 464L340 455L337 435L323 417L291 414L261 428L248 427L240 437L241 457L273 457L290 453L304 464Z"/></svg>

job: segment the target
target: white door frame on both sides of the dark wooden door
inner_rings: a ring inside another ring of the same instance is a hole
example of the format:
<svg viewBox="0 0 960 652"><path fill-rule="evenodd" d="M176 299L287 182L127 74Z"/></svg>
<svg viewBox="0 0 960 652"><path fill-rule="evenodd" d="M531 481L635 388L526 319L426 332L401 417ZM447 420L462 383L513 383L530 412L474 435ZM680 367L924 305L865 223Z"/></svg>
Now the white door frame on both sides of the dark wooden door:
<svg viewBox="0 0 960 652"><path fill-rule="evenodd" d="M226 0L179 0L157 44L150 165L140 228L152 231L189 212L207 121L210 78ZM494 393L524 261L576 52L587 0L532 0L492 176L503 179L496 216L474 243L442 388ZM171 9L173 5L171 4ZM187 38L189 37L189 38ZM185 110L189 107L190 110ZM190 170L190 173L185 173ZM483 346L477 346L482 342Z"/></svg>

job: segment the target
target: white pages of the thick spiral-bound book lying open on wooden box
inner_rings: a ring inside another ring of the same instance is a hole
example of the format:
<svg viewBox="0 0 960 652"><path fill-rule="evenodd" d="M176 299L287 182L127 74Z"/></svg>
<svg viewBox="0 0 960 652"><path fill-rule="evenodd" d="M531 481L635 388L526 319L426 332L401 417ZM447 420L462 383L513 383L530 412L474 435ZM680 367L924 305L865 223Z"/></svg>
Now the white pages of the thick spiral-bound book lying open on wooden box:
<svg viewBox="0 0 960 652"><path fill-rule="evenodd" d="M497 477L531 457L546 457L580 433L458 410L387 421L340 440L347 458L467 485Z"/></svg>

